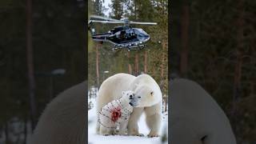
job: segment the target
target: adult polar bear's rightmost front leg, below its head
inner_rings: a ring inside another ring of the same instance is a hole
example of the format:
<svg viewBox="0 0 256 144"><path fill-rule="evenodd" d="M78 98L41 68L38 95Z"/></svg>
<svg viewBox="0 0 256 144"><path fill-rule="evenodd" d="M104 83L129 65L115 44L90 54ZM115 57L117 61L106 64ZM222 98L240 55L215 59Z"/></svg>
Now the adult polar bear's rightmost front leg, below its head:
<svg viewBox="0 0 256 144"><path fill-rule="evenodd" d="M150 134L148 134L148 137L150 138L160 136L159 129L162 122L161 108L162 108L162 102L159 102L154 106L145 108L146 124L150 128Z"/></svg>

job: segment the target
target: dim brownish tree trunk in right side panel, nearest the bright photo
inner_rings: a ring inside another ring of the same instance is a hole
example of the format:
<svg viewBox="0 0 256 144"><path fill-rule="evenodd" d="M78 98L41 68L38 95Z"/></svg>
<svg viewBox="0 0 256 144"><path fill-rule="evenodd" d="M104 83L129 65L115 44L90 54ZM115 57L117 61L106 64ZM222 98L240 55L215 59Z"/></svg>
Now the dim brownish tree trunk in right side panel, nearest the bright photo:
<svg viewBox="0 0 256 144"><path fill-rule="evenodd" d="M187 73L187 59L188 59L188 38L189 38L189 25L190 25L190 7L185 5L182 7L182 51L180 73L186 77Z"/></svg>

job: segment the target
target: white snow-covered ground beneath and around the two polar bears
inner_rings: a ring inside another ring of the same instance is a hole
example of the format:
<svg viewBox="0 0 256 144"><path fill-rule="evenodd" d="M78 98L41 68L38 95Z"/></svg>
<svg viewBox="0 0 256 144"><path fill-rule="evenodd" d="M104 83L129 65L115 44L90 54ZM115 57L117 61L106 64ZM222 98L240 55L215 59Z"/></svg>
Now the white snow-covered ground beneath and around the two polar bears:
<svg viewBox="0 0 256 144"><path fill-rule="evenodd" d="M167 113L162 114L162 126L161 133L163 134L164 130L168 130L168 115ZM146 126L145 114L142 114L138 122L139 132L144 134L144 137L138 136L102 136L95 134L95 125L97 122L96 110L92 108L88 111L88 143L89 144L160 144L162 143L161 137L158 138L148 138L146 137L149 134L149 129ZM168 134L167 134L168 135ZM167 142L164 142L167 144Z"/></svg>

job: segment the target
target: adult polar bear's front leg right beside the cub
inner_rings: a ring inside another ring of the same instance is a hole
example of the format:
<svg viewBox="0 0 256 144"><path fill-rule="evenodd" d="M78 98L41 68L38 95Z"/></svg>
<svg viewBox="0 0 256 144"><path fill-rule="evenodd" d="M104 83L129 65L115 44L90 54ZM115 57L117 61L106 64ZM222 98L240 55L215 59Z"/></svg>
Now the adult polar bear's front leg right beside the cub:
<svg viewBox="0 0 256 144"><path fill-rule="evenodd" d="M128 134L129 135L136 135L136 136L143 136L143 134L138 133L138 119L141 117L144 108L134 107L133 112L130 115L129 122L128 122Z"/></svg>

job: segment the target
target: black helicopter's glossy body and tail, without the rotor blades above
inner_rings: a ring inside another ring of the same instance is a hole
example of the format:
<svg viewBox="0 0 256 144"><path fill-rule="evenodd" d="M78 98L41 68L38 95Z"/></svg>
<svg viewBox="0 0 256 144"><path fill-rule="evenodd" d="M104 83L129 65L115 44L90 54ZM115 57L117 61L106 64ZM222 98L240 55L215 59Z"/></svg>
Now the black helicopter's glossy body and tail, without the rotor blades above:
<svg viewBox="0 0 256 144"><path fill-rule="evenodd" d="M150 35L140 28L117 26L108 33L94 34L92 38L98 42L111 42L115 46L129 47L142 45L150 39Z"/></svg>

